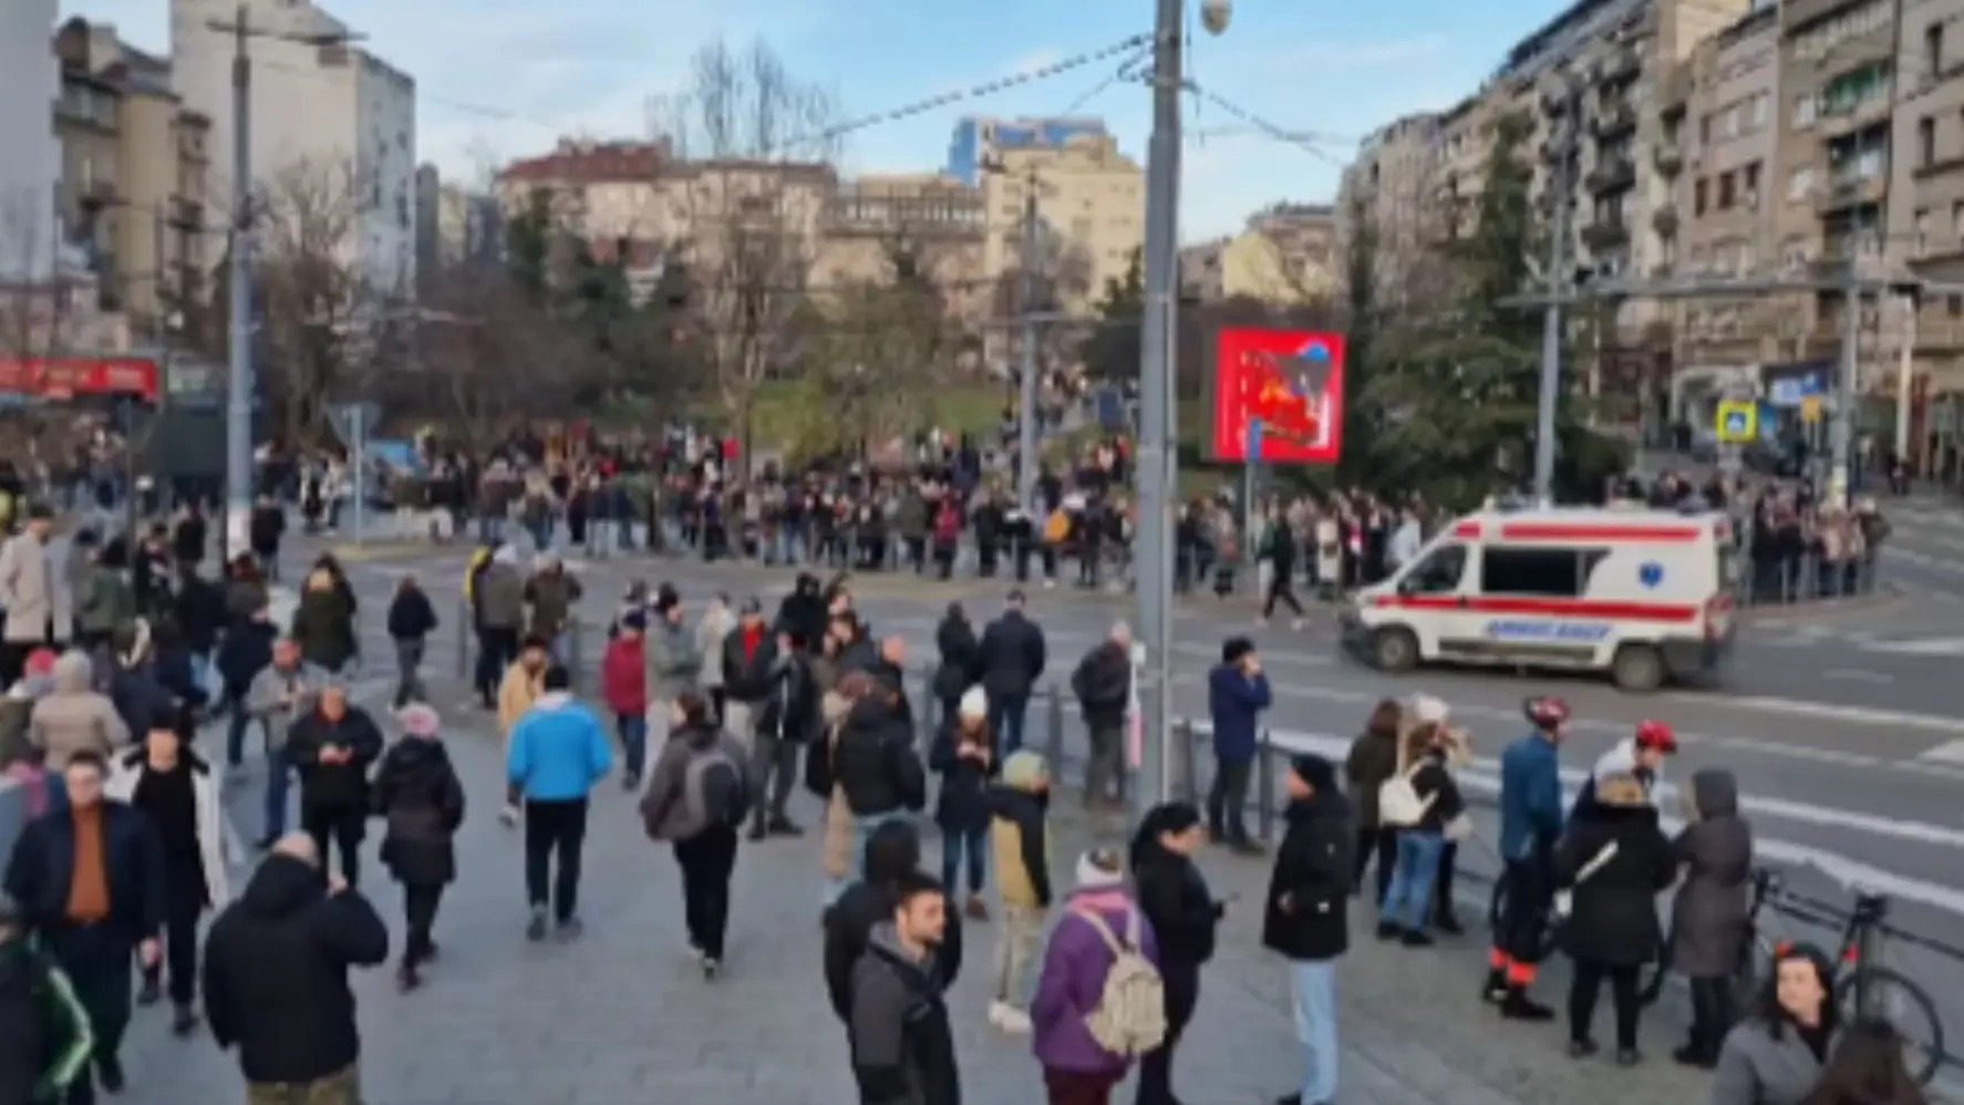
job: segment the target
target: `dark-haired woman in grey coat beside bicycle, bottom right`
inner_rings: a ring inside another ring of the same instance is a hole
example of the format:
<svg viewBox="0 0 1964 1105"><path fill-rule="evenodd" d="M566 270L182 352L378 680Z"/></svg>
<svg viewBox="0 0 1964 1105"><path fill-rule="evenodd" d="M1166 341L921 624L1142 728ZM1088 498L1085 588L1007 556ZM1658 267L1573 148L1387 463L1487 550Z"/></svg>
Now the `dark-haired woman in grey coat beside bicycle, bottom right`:
<svg viewBox="0 0 1964 1105"><path fill-rule="evenodd" d="M1718 1046L1713 1105L1801 1105L1834 1044L1834 968L1819 948L1785 944L1754 1011Z"/></svg>

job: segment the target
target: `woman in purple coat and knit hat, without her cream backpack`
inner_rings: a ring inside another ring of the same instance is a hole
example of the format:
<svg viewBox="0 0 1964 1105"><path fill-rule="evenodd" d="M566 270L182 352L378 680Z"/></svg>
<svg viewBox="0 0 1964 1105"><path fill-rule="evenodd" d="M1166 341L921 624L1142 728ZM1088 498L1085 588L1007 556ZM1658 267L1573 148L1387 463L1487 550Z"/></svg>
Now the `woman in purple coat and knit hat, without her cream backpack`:
<svg viewBox="0 0 1964 1105"><path fill-rule="evenodd" d="M1104 922L1104 930L1092 917ZM1096 848L1078 860L1076 889L1051 930L1043 977L1029 1003L1033 1050L1043 1064L1049 1105L1110 1105L1112 1089L1131 1070L1135 1056L1106 1050L1086 1025L1118 962L1108 936L1118 942L1135 938L1133 948L1147 962L1159 962L1153 926L1125 893L1125 860Z"/></svg>

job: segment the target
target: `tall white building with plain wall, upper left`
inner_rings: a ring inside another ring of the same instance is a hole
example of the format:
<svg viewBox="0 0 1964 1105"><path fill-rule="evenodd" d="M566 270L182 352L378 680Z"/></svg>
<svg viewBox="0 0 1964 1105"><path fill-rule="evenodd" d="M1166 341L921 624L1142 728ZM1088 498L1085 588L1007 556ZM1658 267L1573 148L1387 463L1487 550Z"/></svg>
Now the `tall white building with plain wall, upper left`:
<svg viewBox="0 0 1964 1105"><path fill-rule="evenodd" d="M340 247L377 294L407 292L416 273L416 82L352 45L354 27L308 0L171 0L173 84L212 120L226 151L214 188L230 202L230 26L244 12L253 35L251 167L273 208L281 192L332 186L350 208ZM326 184L324 184L326 183ZM277 237L275 237L277 241Z"/></svg>

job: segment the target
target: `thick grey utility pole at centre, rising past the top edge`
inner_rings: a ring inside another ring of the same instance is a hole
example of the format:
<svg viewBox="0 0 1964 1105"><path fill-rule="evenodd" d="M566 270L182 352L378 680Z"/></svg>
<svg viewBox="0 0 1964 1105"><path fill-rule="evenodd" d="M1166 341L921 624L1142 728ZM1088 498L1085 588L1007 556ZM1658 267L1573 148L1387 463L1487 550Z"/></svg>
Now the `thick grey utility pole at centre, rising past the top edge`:
<svg viewBox="0 0 1964 1105"><path fill-rule="evenodd" d="M1180 249L1180 90L1182 0L1155 0L1153 20L1153 137L1145 165L1145 296L1139 347L1139 457L1135 563L1139 624L1133 644L1137 697L1139 785L1137 813L1173 793L1167 756L1173 740L1173 489L1178 453L1173 449L1173 357L1178 349Z"/></svg>

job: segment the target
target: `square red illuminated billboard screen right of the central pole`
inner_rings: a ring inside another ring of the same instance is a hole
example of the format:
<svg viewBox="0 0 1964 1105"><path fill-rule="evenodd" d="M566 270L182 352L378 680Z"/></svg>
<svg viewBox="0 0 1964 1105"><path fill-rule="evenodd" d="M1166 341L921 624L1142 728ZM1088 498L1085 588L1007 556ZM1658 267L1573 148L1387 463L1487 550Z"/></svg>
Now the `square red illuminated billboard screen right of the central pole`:
<svg viewBox="0 0 1964 1105"><path fill-rule="evenodd" d="M1214 345L1208 455L1330 465L1343 453L1343 336L1237 326Z"/></svg>

